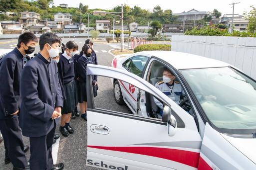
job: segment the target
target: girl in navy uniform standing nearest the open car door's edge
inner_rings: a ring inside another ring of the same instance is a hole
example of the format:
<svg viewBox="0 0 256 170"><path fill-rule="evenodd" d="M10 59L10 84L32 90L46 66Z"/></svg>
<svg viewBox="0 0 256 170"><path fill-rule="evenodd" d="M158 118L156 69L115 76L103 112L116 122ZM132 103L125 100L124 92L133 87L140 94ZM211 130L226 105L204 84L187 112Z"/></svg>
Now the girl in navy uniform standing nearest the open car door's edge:
<svg viewBox="0 0 256 170"><path fill-rule="evenodd" d="M91 57L92 49L88 45L84 45L82 48L83 55L78 59L77 71L78 71L78 102L80 103L81 117L87 120L87 94L86 94L86 67L87 64L95 64L94 59ZM92 76L93 87L97 85L97 76Z"/></svg>

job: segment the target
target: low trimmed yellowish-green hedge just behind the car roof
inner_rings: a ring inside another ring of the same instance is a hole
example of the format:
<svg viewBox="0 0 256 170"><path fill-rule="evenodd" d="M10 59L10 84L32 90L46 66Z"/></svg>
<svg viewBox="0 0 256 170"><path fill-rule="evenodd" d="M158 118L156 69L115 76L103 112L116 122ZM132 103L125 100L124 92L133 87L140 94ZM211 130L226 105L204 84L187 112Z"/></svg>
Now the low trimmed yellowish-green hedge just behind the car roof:
<svg viewBox="0 0 256 170"><path fill-rule="evenodd" d="M168 44L145 44L145 45L139 45L135 47L134 53L140 52L140 51L171 51L171 45Z"/></svg>

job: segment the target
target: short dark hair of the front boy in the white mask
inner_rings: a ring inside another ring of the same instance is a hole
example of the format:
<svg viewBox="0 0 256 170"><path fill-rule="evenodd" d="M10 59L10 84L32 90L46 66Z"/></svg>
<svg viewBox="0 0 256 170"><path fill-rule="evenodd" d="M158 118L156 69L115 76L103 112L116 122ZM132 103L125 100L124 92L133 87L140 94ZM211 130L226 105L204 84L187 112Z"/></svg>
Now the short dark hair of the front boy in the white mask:
<svg viewBox="0 0 256 170"><path fill-rule="evenodd" d="M52 45L54 43L60 43L60 42L61 42L61 40L56 34L53 34L51 32L47 32L47 33L44 33L40 36L39 47L40 47L40 50L42 50L43 46L45 44Z"/></svg>

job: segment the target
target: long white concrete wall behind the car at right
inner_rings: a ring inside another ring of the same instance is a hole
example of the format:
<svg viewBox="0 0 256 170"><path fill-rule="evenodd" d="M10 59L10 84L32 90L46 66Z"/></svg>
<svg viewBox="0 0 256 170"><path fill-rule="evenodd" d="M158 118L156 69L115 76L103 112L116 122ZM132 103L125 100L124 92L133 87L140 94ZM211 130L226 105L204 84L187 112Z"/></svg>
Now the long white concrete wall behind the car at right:
<svg viewBox="0 0 256 170"><path fill-rule="evenodd" d="M256 38L174 35L171 50L224 61L256 80Z"/></svg>

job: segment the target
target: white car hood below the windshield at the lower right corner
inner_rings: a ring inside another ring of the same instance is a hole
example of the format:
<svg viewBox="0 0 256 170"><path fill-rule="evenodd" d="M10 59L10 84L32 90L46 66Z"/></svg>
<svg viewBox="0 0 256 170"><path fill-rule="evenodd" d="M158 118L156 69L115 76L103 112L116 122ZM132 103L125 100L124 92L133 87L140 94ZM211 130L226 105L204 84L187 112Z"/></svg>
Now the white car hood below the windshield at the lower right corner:
<svg viewBox="0 0 256 170"><path fill-rule="evenodd" d="M256 164L256 138L232 137L225 134L222 134L222 136Z"/></svg>

